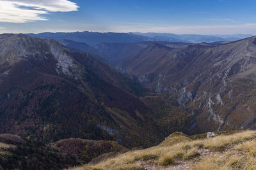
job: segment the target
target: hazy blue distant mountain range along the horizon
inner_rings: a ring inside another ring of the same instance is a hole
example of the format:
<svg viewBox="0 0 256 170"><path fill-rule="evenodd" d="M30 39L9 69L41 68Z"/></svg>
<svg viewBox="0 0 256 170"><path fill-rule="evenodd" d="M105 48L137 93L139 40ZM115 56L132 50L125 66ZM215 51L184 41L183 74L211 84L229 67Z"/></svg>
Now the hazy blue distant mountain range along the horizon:
<svg viewBox="0 0 256 170"><path fill-rule="evenodd" d="M185 43L211 43L215 41L235 41L248 38L250 34L234 35L196 35L196 34L168 34L168 33L116 33L116 32L43 32L40 34L27 34L36 38L52 38L56 40L69 39L79 43L87 43L90 46L100 43L138 43L141 41L167 41Z"/></svg>

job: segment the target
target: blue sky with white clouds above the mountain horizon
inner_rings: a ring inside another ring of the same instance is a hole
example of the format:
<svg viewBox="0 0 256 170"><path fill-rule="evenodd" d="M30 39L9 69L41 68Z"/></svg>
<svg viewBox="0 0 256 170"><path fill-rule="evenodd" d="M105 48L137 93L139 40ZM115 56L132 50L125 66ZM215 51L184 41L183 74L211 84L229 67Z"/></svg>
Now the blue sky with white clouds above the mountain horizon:
<svg viewBox="0 0 256 170"><path fill-rule="evenodd" d="M0 0L0 33L254 34L256 0Z"/></svg>

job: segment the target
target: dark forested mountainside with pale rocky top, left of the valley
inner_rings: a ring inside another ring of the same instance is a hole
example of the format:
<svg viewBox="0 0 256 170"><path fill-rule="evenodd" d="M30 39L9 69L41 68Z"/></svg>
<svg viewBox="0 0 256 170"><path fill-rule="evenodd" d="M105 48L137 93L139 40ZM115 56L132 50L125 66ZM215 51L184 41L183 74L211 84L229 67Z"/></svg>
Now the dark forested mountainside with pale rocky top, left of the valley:
<svg viewBox="0 0 256 170"><path fill-rule="evenodd" d="M0 133L44 143L66 138L110 139L127 147L151 146L163 131L156 108L139 97L145 89L89 53L63 48L52 39L0 36ZM175 117L179 118L179 117ZM184 128L185 125L185 128Z"/></svg>

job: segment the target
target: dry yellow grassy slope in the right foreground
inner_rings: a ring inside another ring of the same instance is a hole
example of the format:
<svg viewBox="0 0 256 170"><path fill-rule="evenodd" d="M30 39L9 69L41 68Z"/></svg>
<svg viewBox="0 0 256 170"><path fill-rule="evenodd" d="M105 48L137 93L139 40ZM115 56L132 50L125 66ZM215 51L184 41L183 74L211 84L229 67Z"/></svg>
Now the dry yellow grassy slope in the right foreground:
<svg viewBox="0 0 256 170"><path fill-rule="evenodd" d="M145 169L147 164L159 169L173 169L180 164L188 164L189 169L196 170L256 169L256 131L196 140L176 133L158 146L123 153L99 164L86 164L75 170Z"/></svg>

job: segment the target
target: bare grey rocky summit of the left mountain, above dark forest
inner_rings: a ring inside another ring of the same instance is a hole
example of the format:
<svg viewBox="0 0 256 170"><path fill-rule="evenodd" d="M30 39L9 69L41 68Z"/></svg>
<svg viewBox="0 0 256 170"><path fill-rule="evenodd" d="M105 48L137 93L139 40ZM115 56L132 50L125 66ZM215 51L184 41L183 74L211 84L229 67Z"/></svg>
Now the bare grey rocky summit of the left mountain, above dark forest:
<svg viewBox="0 0 256 170"><path fill-rule="evenodd" d="M72 75L73 69L78 69L72 57L65 53L58 41L53 39L31 38L23 34L1 35L0 60L14 64L20 60L49 60L56 61L57 73Z"/></svg>

